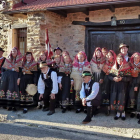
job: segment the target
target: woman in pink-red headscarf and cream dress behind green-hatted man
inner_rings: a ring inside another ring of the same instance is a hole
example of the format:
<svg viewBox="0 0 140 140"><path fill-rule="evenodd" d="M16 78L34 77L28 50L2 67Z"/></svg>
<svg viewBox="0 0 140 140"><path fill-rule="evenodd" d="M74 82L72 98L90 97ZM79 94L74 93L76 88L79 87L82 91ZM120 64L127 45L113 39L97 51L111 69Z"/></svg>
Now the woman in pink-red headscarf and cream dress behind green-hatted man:
<svg viewBox="0 0 140 140"><path fill-rule="evenodd" d="M82 102L80 99L80 90L82 88L82 73L83 71L90 71L90 63L87 61L87 56L85 52L80 51L74 59L71 78L74 80L74 90L75 90L75 107L76 113L81 112Z"/></svg>

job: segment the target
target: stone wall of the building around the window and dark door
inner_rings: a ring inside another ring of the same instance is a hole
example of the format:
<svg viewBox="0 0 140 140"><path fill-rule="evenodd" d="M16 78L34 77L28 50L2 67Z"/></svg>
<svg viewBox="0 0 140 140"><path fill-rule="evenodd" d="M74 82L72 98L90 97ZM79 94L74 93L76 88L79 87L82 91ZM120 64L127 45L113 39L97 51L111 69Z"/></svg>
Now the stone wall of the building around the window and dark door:
<svg viewBox="0 0 140 140"><path fill-rule="evenodd" d="M0 14L0 25L27 24L27 50L33 51L35 56L39 56L41 50L45 50L45 29L49 31L49 39L52 49L60 47L67 50L71 57L74 57L80 50L84 51L85 27L72 25L72 21L85 21L89 17L91 22L106 22L111 20L111 16L117 19L136 19L140 14L139 7L118 8L115 13L110 10L91 11L89 16L82 12L69 13L66 18L53 12L30 12L27 15L16 14L13 16ZM0 46L7 50L7 55L11 46L12 29L0 30ZM7 49L8 48L8 49Z"/></svg>

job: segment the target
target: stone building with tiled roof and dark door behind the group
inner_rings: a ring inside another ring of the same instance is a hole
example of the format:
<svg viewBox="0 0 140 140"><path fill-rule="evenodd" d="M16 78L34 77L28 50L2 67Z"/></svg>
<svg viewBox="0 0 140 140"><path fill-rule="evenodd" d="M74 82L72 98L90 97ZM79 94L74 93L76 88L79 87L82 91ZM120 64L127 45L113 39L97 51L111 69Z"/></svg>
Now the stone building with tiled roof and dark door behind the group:
<svg viewBox="0 0 140 140"><path fill-rule="evenodd" d="M125 42L140 51L139 0L0 0L0 47L5 56L19 47L38 57L45 49L45 29L52 49L73 57L79 50L90 59L95 47L118 52Z"/></svg>

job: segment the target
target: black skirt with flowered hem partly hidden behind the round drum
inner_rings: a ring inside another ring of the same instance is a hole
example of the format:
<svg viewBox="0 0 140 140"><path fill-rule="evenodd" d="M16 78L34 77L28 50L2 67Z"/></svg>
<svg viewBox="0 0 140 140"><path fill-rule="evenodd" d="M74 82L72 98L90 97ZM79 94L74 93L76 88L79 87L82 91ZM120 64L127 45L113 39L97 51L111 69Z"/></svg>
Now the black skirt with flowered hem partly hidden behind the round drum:
<svg viewBox="0 0 140 140"><path fill-rule="evenodd" d="M27 88L28 84L34 84L34 75L33 74L25 74L25 75L22 75L22 77L21 77L20 107L37 106L37 94L34 96L31 96L26 92L26 88Z"/></svg>

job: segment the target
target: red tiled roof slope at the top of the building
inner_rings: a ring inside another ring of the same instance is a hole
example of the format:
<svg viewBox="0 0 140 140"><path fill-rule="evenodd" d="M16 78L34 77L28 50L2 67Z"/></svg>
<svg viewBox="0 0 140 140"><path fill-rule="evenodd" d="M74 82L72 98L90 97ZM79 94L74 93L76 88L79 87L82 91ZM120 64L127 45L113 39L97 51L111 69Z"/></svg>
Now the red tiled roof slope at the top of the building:
<svg viewBox="0 0 140 140"><path fill-rule="evenodd" d="M14 5L13 9L15 10L44 10L50 7L62 7L62 6L72 6L72 5L84 5L92 3L103 3L108 1L120 1L120 0L25 0L27 5L22 3Z"/></svg>

